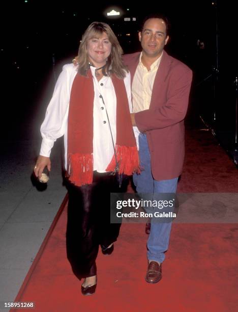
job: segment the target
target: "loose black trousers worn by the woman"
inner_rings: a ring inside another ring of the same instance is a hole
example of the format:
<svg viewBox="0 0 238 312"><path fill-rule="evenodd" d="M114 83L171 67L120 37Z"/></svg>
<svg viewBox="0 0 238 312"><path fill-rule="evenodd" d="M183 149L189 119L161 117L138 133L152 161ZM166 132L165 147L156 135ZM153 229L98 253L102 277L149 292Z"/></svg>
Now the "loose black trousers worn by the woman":
<svg viewBox="0 0 238 312"><path fill-rule="evenodd" d="M96 171L90 185L68 183L66 247L77 278L96 275L99 245L107 247L116 241L121 224L110 223L110 193L126 192L127 185L126 177L119 188L117 175Z"/></svg>

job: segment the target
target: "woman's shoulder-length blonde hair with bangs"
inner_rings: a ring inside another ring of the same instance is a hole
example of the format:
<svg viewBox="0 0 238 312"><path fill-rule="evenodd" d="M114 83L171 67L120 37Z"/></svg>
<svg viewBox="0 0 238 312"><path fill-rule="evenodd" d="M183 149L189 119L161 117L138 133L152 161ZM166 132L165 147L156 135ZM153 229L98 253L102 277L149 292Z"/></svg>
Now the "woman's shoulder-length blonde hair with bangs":
<svg viewBox="0 0 238 312"><path fill-rule="evenodd" d="M110 76L111 74L115 74L118 78L124 79L128 69L123 64L123 49L110 26L103 22L91 23L82 36L82 41L78 49L78 56L76 58L78 64L78 73L82 76L87 76L87 71L90 68L87 55L87 42L92 38L101 36L103 33L107 34L111 43L111 53L107 58L106 66L103 67L102 72L104 75Z"/></svg>

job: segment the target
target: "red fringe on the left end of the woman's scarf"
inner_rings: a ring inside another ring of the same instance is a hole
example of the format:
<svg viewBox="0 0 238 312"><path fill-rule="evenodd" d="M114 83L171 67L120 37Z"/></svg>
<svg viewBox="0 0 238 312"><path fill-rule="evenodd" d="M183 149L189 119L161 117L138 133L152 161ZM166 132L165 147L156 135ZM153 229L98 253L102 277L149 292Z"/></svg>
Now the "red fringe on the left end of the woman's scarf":
<svg viewBox="0 0 238 312"><path fill-rule="evenodd" d="M69 154L67 173L69 180L80 187L93 183L93 154Z"/></svg>

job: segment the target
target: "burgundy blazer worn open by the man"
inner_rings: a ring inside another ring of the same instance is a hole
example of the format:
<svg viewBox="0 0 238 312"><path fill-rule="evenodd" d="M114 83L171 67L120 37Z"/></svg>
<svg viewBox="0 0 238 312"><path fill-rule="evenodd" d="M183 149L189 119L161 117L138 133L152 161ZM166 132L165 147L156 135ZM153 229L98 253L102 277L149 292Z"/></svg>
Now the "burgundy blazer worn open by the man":
<svg viewBox="0 0 238 312"><path fill-rule="evenodd" d="M131 72L131 81L139 64L139 56L140 52L124 55L124 62ZM139 131L146 132L152 174L156 180L172 179L182 173L185 155L184 118L191 83L191 69L163 51L150 108L135 114Z"/></svg>

